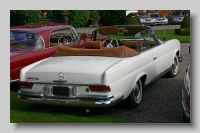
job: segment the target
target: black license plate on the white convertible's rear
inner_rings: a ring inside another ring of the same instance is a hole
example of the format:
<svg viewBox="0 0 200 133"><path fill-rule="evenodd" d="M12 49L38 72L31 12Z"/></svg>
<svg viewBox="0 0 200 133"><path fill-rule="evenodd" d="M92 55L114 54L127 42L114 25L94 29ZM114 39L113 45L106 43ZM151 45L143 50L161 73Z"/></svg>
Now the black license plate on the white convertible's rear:
<svg viewBox="0 0 200 133"><path fill-rule="evenodd" d="M54 86L53 95L56 96L69 96L69 87Z"/></svg>

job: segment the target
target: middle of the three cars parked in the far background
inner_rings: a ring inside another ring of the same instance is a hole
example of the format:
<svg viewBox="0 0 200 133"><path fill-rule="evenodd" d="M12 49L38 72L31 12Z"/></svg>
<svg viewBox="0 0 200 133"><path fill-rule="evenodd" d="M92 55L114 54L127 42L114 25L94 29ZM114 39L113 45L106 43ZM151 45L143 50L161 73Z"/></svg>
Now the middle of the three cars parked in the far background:
<svg viewBox="0 0 200 133"><path fill-rule="evenodd" d="M162 14L151 14L151 18L156 19L156 25L167 25L168 24L168 18L163 16Z"/></svg>

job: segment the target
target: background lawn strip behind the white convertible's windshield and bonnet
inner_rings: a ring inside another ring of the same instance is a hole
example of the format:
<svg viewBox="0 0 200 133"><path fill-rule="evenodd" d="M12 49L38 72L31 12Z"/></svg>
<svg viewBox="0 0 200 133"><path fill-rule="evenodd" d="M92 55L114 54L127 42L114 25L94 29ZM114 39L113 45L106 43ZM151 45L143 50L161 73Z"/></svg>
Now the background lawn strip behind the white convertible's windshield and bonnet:
<svg viewBox="0 0 200 133"><path fill-rule="evenodd" d="M164 36L164 30L154 30L156 36L162 40ZM118 35L108 35L109 37L113 37L116 39L123 38L133 38L133 36L124 36L124 33L120 32ZM174 30L165 30L165 36L168 40L170 39L178 39L181 43L190 43L190 36L180 36L175 34Z"/></svg>

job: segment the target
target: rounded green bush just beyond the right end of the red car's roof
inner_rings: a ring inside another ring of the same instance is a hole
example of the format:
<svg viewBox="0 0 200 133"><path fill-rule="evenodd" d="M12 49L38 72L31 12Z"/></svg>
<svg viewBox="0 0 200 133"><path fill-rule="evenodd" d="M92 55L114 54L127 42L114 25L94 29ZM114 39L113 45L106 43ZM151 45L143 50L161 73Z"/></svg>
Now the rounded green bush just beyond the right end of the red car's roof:
<svg viewBox="0 0 200 133"><path fill-rule="evenodd" d="M84 27L89 18L86 10L69 10L69 24L75 28Z"/></svg>

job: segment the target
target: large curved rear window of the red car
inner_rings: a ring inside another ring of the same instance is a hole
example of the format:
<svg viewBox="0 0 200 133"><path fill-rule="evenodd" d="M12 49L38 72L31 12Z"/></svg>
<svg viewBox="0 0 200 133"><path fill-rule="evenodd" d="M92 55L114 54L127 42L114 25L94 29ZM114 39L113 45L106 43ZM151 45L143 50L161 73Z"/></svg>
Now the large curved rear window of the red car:
<svg viewBox="0 0 200 133"><path fill-rule="evenodd" d="M35 50L43 46L41 37L35 33L10 31L10 48Z"/></svg>

